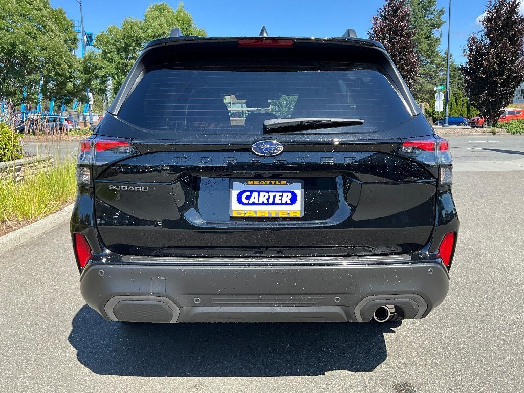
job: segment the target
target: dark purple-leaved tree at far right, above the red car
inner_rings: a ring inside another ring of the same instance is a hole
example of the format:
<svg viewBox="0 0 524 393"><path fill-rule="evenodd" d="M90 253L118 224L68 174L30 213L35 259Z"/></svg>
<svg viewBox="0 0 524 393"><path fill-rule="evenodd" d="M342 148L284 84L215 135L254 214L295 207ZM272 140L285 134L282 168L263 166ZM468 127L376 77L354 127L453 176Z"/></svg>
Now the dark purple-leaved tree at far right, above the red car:
<svg viewBox="0 0 524 393"><path fill-rule="evenodd" d="M488 0L482 30L464 54L470 99L488 124L495 123L524 81L524 17L520 0Z"/></svg>

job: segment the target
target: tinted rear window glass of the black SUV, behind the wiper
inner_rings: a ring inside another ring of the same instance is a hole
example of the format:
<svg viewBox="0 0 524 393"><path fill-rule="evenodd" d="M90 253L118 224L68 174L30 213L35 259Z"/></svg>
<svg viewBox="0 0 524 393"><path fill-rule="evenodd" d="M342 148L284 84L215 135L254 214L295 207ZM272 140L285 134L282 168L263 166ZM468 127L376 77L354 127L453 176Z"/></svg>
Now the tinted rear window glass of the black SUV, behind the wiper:
<svg viewBox="0 0 524 393"><path fill-rule="evenodd" d="M386 75L373 65L298 70L156 69L117 116L152 136L263 134L279 118L355 118L363 125L306 133L369 133L407 122L411 114ZM304 132L301 132L304 133Z"/></svg>

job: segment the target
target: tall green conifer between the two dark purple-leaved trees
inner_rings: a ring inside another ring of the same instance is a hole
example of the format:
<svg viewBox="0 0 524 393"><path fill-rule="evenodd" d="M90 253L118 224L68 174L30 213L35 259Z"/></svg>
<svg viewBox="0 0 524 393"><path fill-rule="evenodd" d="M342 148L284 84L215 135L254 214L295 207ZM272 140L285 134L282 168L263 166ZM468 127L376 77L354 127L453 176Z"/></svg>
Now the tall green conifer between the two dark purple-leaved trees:
<svg viewBox="0 0 524 393"><path fill-rule="evenodd" d="M413 91L417 101L427 102L433 95L433 87L442 80L444 58L440 52L440 29L444 24L444 7L437 0L410 0L411 26L417 45L420 71Z"/></svg>

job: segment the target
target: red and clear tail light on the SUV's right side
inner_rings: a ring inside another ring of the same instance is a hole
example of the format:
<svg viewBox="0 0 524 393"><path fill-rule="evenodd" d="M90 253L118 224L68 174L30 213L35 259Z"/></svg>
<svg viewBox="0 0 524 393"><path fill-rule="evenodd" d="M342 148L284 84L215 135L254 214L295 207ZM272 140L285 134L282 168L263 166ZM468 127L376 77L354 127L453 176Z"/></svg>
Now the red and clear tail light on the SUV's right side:
<svg viewBox="0 0 524 393"><path fill-rule="evenodd" d="M412 158L429 166L439 166L439 185L453 181L453 158L449 140L441 137L407 139L397 149L397 154Z"/></svg>

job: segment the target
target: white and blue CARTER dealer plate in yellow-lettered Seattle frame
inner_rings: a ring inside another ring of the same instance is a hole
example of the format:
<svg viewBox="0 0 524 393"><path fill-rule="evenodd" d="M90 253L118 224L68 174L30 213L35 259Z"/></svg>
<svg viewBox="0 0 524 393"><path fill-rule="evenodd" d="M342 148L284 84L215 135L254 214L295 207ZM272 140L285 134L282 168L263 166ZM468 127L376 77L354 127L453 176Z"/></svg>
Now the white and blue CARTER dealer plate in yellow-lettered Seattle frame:
<svg viewBox="0 0 524 393"><path fill-rule="evenodd" d="M281 179L231 180L230 216L256 219L303 217L304 182Z"/></svg>

